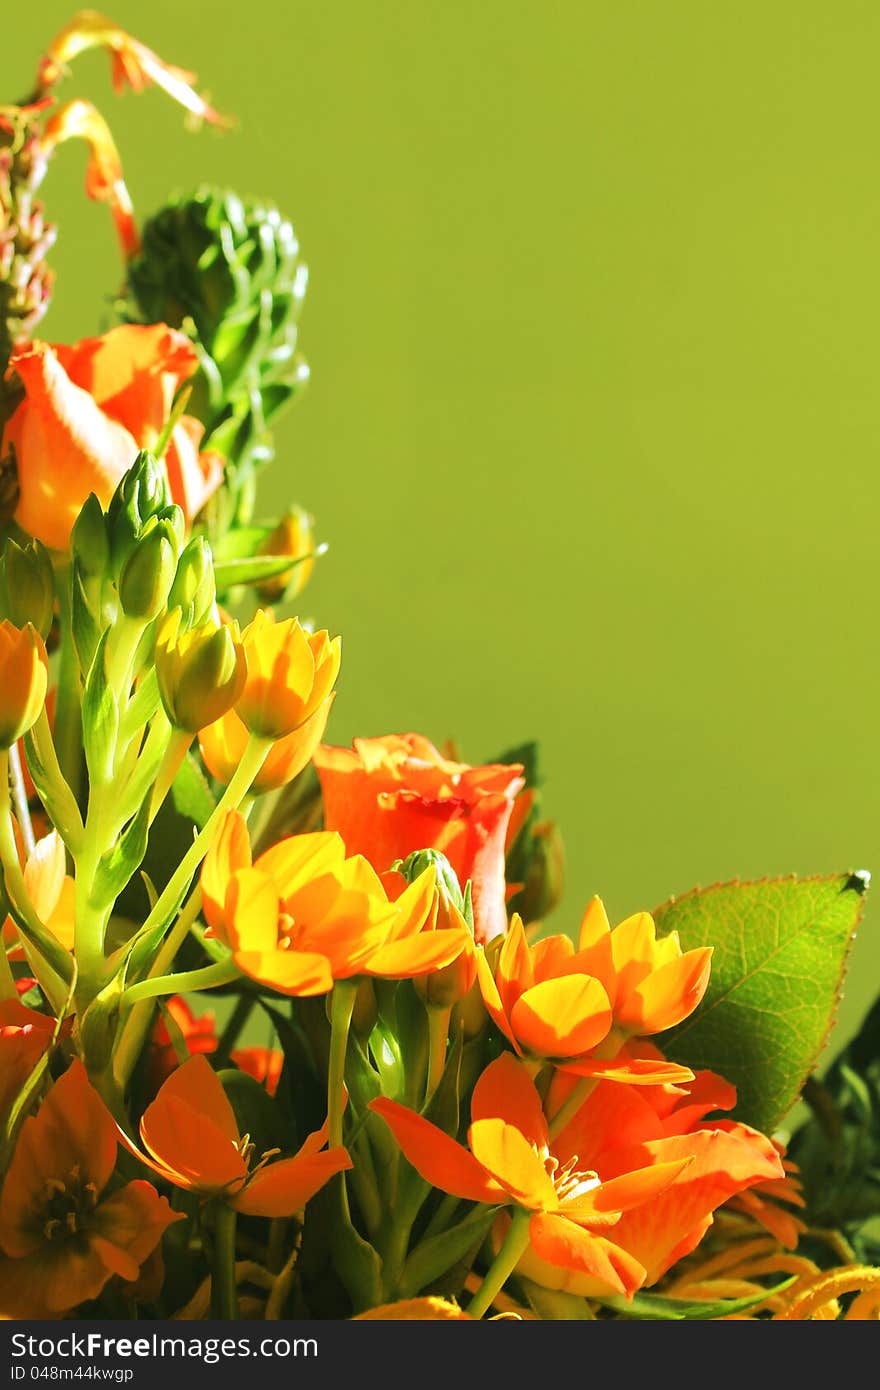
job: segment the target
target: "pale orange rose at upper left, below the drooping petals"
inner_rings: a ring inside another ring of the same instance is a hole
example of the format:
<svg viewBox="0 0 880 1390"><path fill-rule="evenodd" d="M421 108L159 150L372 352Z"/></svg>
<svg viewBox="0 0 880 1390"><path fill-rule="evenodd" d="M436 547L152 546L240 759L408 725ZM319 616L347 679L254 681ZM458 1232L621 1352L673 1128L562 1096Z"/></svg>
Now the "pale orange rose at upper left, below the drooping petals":
<svg viewBox="0 0 880 1390"><path fill-rule="evenodd" d="M152 449L197 357L165 324L124 324L72 348L32 342L10 366L24 389L3 435L18 468L15 520L57 550L90 492L107 506L139 449ZM222 481L222 460L199 453L202 425L184 416L165 452L174 500L188 521Z"/></svg>

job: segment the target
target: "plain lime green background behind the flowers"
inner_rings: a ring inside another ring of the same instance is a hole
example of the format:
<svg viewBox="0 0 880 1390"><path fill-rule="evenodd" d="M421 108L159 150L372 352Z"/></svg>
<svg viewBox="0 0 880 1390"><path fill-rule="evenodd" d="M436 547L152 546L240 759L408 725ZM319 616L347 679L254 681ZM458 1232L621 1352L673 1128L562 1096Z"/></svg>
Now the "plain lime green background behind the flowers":
<svg viewBox="0 0 880 1390"><path fill-rule="evenodd" d="M108 0L110 3L110 0ZM880 867L880 8L117 0L239 117L82 58L138 210L274 197L311 270L264 512L331 545L331 734L542 742L566 906ZM3 90L70 14L15 7ZM68 147L46 335L111 322ZM877 992L880 908L840 1041Z"/></svg>

